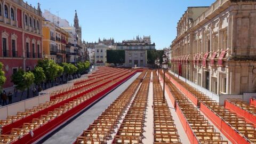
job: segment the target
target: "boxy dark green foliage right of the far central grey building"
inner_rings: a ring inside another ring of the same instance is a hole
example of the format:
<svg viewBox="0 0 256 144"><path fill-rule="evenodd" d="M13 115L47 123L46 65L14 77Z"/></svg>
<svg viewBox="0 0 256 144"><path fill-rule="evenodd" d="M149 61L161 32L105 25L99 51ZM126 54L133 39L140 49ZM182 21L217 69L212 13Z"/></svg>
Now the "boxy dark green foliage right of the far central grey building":
<svg viewBox="0 0 256 144"><path fill-rule="evenodd" d="M162 56L164 55L164 51L163 50L148 50L147 51L147 60L149 64L154 64L155 60L157 58L160 59L160 63L163 62L163 58Z"/></svg>

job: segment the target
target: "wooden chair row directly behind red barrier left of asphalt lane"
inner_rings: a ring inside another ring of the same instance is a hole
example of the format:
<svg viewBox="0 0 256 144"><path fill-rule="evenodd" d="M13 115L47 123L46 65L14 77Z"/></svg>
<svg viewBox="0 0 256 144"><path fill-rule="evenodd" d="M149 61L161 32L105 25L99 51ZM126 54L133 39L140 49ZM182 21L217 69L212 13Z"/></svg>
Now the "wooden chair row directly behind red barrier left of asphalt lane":
<svg viewBox="0 0 256 144"><path fill-rule="evenodd" d="M45 115L41 115L38 118L33 118L33 121L31 121L30 123L23 123L22 128L20 128L20 129L13 128L9 135L7 135L7 136L0 135L0 142L9 143L9 142L12 142L14 139L6 139L6 138L22 137L23 135L29 133L31 130L36 129L36 128L40 127L41 125L44 125L47 122L51 121L52 119L62 115L63 113L66 113L68 110L70 110L78 105L81 105L82 102L92 98L94 95L100 93L101 91L108 89L108 87L110 87L111 85L115 84L118 81L121 81L121 79L127 77L127 75L129 75L129 74L119 77L119 78L115 79L114 81L111 81L110 83L99 87L98 89L95 89L89 93L82 95L81 97L79 97L77 99L74 99L73 101L70 101L69 103L65 103L65 105L60 106L59 108L55 108L53 111L49 111ZM101 122L101 124L103 124L103 121ZM5 136L5 137L2 137L2 136ZM3 139L1 139L1 138L3 138Z"/></svg>

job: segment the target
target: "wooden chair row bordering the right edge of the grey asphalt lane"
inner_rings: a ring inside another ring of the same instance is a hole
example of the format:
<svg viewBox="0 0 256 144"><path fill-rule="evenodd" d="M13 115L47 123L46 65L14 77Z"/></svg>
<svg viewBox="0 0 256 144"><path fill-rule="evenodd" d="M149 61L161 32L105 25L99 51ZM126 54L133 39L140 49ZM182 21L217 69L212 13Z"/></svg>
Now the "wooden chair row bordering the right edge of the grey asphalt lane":
<svg viewBox="0 0 256 144"><path fill-rule="evenodd" d="M143 74L141 74L143 75ZM89 125L82 135L77 137L76 143L106 143L112 139L111 134L122 119L132 96L140 84L135 80L121 95L111 103L103 113Z"/></svg>

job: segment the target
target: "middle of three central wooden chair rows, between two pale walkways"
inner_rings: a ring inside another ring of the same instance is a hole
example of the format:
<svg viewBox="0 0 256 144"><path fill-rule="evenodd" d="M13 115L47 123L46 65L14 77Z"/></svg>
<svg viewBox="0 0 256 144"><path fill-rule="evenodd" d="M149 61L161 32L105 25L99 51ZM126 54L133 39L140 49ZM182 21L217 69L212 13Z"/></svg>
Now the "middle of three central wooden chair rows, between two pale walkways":
<svg viewBox="0 0 256 144"><path fill-rule="evenodd" d="M142 143L151 71L143 79L113 143Z"/></svg>

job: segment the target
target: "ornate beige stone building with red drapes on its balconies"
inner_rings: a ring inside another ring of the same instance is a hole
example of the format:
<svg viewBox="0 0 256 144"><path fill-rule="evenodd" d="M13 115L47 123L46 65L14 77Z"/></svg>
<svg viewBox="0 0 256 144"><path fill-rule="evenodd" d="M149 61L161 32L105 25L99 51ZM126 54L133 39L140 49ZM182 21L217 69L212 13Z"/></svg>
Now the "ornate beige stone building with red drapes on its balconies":
<svg viewBox="0 0 256 144"><path fill-rule="evenodd" d="M172 71L216 94L256 92L256 2L188 7L171 45Z"/></svg>

